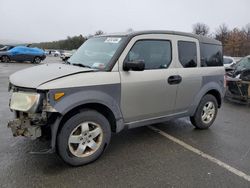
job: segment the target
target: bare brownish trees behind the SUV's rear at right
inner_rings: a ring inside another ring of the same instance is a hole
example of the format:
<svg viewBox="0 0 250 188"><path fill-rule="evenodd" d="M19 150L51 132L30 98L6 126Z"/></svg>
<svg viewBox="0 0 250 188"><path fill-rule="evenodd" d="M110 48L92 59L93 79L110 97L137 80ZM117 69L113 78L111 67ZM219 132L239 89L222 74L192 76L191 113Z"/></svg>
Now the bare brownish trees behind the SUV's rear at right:
<svg viewBox="0 0 250 188"><path fill-rule="evenodd" d="M221 41L224 55L233 57L250 55L250 23L241 29L237 27L229 29L226 24L221 24L214 33L209 31L209 27L204 23L193 25L193 33Z"/></svg>

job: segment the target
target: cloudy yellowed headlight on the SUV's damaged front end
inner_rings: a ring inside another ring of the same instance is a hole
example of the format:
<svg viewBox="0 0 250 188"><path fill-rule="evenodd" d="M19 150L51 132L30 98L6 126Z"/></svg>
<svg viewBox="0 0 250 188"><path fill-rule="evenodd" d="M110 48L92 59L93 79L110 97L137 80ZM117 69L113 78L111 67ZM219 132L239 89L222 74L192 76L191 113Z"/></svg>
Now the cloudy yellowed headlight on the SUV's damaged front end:
<svg viewBox="0 0 250 188"><path fill-rule="evenodd" d="M35 113L40 101L40 94L28 92L14 92L10 100L10 109Z"/></svg>

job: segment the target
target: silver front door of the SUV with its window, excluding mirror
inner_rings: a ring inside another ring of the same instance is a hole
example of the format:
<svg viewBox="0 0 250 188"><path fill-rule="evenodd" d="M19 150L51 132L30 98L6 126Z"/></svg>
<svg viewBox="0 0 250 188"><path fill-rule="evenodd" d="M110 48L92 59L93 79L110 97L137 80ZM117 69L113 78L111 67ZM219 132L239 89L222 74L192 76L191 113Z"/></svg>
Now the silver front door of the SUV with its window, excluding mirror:
<svg viewBox="0 0 250 188"><path fill-rule="evenodd" d="M168 83L169 77L176 75L172 43L172 37L168 35L139 35L122 53L119 71L125 123L173 113L177 84ZM143 60L145 70L124 71L123 64L133 60Z"/></svg>

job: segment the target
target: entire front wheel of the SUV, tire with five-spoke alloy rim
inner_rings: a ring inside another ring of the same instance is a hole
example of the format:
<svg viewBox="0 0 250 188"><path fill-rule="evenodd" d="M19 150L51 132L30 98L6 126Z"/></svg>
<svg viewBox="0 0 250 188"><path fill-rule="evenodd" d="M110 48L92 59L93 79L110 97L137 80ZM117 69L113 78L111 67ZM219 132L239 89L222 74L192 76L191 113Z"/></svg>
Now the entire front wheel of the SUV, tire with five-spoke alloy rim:
<svg viewBox="0 0 250 188"><path fill-rule="evenodd" d="M85 165L101 156L110 137L109 121L97 111L84 110L63 125L57 136L57 152L72 166Z"/></svg>

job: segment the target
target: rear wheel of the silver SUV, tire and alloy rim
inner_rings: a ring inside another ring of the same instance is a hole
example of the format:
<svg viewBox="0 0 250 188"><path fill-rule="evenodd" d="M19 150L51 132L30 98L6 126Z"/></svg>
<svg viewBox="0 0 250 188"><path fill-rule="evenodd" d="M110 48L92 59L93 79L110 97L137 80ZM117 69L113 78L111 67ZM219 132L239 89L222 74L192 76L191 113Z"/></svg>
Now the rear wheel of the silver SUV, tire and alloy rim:
<svg viewBox="0 0 250 188"><path fill-rule="evenodd" d="M214 122L218 112L218 102L213 95L205 95L198 105L191 123L197 129L208 129Z"/></svg>

